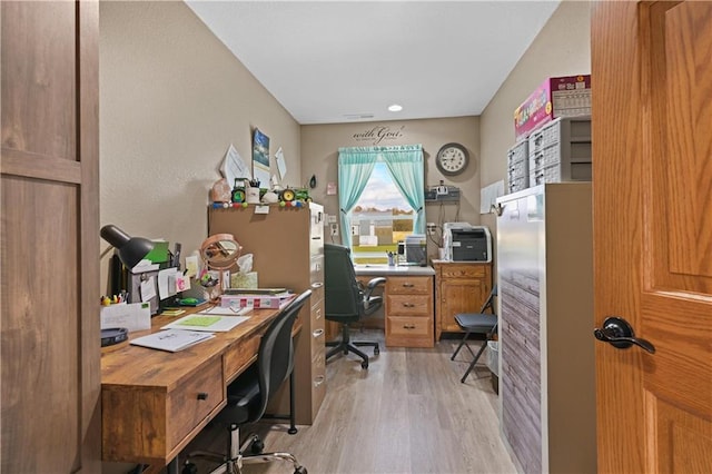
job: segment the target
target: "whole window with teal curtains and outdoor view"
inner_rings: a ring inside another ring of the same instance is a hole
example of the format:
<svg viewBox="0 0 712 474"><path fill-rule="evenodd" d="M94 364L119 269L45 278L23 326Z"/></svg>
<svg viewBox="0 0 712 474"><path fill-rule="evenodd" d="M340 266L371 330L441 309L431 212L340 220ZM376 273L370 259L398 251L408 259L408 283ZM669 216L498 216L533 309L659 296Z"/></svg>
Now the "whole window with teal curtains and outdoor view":
<svg viewBox="0 0 712 474"><path fill-rule="evenodd" d="M408 234L425 234L423 148L339 148L342 244L354 263L385 264Z"/></svg>

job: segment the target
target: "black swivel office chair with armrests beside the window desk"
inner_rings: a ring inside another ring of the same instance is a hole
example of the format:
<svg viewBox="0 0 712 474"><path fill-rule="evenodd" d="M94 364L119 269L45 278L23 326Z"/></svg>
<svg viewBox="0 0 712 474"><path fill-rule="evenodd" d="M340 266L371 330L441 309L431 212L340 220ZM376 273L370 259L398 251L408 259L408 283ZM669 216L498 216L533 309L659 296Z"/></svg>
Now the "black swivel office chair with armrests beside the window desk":
<svg viewBox="0 0 712 474"><path fill-rule="evenodd" d="M350 340L348 325L383 306L383 296L373 296L372 292L384 283L384 277L373 278L363 288L356 279L350 249L340 245L324 245L325 317L342 325L342 340L326 343L328 347L333 347L326 354L327 359L342 352L345 355L352 352L363 359L360 366L368 368L368 356L356 347L373 346L374 355L380 353L378 343Z"/></svg>

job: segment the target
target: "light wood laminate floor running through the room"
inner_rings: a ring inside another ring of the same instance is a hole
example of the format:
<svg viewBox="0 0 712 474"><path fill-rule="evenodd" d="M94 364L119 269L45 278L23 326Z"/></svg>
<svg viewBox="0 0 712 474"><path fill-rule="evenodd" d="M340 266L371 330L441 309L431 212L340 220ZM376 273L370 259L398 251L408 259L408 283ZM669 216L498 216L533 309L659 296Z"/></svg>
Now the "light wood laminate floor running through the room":
<svg viewBox="0 0 712 474"><path fill-rule="evenodd" d="M435 348L387 348L383 332L355 332L354 339L382 343L368 371L359 359L335 356L327 363L327 395L312 426L289 435L287 425L259 423L265 452L297 456L309 474L334 473L514 473L500 438L497 396L483 365L465 384L471 361L463 349L452 362L456 340ZM471 346L476 350L481 342ZM244 429L250 431L249 427ZM186 451L224 452L226 431L208 427ZM197 463L200 473L209 465ZM249 473L289 473L286 463L245 466Z"/></svg>

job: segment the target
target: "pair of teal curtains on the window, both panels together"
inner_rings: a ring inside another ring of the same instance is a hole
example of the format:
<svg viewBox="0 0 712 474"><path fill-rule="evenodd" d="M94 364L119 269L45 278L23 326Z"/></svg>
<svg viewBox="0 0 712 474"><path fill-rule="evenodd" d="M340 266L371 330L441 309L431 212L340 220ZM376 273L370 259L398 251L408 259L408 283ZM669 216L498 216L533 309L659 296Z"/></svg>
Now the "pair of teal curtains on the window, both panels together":
<svg viewBox="0 0 712 474"><path fill-rule="evenodd" d="M425 234L423 147L352 147L338 149L338 206L342 244L352 246L352 210L358 203L378 160L386 164L396 187L415 210L415 234Z"/></svg>

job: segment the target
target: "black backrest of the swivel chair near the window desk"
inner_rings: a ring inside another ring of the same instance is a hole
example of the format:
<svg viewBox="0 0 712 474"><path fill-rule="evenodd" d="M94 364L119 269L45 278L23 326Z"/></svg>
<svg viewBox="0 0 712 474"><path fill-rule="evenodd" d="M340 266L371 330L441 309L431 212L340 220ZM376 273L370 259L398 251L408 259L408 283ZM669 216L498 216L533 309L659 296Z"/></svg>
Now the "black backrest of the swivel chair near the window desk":
<svg viewBox="0 0 712 474"><path fill-rule="evenodd" d="M358 318L364 292L356 279L350 249L324 244L324 312L327 317Z"/></svg>

